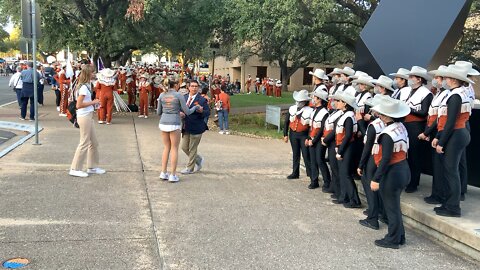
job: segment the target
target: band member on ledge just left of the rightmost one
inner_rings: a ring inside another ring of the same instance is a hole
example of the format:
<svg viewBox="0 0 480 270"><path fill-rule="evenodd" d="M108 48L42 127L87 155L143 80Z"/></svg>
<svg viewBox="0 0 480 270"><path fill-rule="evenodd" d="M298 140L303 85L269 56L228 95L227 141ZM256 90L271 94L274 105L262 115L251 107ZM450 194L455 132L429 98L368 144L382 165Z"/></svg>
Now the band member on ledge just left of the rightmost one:
<svg viewBox="0 0 480 270"><path fill-rule="evenodd" d="M425 130L428 109L433 100L432 92L425 87L428 80L430 80L430 76L424 68L413 66L408 73L408 84L412 89L405 101L410 107L410 114L405 117L404 123L410 141L408 166L410 167L411 179L405 190L407 193L417 191L424 164L424 153L428 149L425 141L418 139L418 135Z"/></svg>

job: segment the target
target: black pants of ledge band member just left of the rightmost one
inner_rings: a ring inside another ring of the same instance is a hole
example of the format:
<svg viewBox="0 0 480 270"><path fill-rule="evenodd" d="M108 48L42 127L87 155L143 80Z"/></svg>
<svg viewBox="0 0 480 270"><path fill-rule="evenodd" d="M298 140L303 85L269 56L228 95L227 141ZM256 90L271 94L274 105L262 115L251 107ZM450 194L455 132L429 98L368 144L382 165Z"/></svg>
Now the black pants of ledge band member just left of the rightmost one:
<svg viewBox="0 0 480 270"><path fill-rule="evenodd" d="M410 184L407 188L417 188L420 183L420 174L424 164L424 153L427 151L427 142L418 139L418 135L425 130L425 122L404 123L408 131L408 166L410 167Z"/></svg>

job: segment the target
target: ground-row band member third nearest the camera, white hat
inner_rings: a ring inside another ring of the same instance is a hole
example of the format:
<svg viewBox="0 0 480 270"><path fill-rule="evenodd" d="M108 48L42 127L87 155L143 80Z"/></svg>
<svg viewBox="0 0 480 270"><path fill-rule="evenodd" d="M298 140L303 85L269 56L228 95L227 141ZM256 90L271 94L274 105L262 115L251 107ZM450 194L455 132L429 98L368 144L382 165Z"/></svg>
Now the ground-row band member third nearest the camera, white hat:
<svg viewBox="0 0 480 270"><path fill-rule="evenodd" d="M355 109L357 104L355 97L345 92L335 95L337 110L343 111L335 127L336 158L338 160L338 172L340 178L340 198L333 200L335 204L343 204L345 208L361 207L357 187L352 178L353 146L352 142L357 133L357 121Z"/></svg>

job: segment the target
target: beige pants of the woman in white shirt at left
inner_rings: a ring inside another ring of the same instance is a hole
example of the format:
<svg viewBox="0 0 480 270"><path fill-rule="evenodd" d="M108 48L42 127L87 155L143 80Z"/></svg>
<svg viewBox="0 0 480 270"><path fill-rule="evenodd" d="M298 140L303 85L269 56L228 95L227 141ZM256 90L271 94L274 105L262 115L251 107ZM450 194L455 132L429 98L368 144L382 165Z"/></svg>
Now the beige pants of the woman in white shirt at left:
<svg viewBox="0 0 480 270"><path fill-rule="evenodd" d="M81 171L85 157L87 158L87 168L97 168L99 159L98 141L95 133L93 112L86 116L78 117L77 122L80 126L80 143L73 157L71 169Z"/></svg>

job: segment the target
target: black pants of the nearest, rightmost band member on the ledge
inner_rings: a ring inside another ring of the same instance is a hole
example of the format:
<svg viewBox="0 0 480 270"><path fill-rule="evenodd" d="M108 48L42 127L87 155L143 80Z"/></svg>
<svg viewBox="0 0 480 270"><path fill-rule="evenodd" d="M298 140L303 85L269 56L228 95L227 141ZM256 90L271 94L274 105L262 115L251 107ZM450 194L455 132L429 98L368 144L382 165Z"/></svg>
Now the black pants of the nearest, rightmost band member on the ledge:
<svg viewBox="0 0 480 270"><path fill-rule="evenodd" d="M443 147L443 174L448 185L448 193L443 207L460 213L461 180L458 166L462 153L470 143L470 133L466 128L455 129Z"/></svg>

